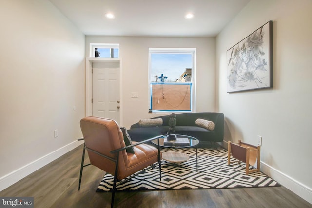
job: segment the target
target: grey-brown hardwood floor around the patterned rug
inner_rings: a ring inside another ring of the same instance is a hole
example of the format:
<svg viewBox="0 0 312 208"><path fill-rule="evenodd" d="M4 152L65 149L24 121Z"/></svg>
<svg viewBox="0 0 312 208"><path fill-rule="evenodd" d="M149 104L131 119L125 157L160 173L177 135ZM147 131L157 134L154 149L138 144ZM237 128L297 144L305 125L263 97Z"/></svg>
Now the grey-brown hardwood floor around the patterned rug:
<svg viewBox="0 0 312 208"><path fill-rule="evenodd" d="M78 191L81 155L79 146L4 189L0 196L33 196L35 208L109 208L111 193L95 192L104 176L102 170L85 167ZM115 207L312 208L312 205L285 187L271 187L117 192Z"/></svg>

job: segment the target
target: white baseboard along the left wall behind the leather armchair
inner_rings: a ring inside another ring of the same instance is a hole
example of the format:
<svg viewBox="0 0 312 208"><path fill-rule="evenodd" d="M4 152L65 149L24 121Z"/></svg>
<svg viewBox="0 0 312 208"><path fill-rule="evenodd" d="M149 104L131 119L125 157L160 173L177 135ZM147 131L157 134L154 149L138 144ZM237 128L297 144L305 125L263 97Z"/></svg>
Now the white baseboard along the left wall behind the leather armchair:
<svg viewBox="0 0 312 208"><path fill-rule="evenodd" d="M63 154L75 149L79 145L83 144L83 141L74 141L64 147L59 148L56 151L53 151L43 157L21 167L18 170L15 170L3 177L0 178L0 191L8 188L9 186L15 184L20 179L26 177L27 175L35 172L36 170L42 168L43 166L49 164L53 160L58 159Z"/></svg>

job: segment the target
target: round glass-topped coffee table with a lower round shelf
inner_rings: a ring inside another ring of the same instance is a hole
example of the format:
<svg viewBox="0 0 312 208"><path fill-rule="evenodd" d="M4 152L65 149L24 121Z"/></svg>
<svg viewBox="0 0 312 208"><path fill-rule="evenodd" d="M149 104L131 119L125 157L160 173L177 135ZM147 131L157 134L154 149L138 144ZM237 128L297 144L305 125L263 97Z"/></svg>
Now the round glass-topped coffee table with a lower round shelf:
<svg viewBox="0 0 312 208"><path fill-rule="evenodd" d="M178 145L175 143L166 144L164 141L165 141L165 138L167 138L167 136L168 135L160 135L160 136L157 136L154 140L152 140L152 143L155 145L158 145L158 140L159 140L160 147L174 148L175 151L163 152L162 159L167 160L169 162L173 162L173 163L185 162L189 159L189 156L185 153L176 151L176 149L195 147L196 148L196 171L198 171L197 146L199 144L199 140L193 136L176 134L177 138L187 138L189 140L189 143L183 144L183 145Z"/></svg>

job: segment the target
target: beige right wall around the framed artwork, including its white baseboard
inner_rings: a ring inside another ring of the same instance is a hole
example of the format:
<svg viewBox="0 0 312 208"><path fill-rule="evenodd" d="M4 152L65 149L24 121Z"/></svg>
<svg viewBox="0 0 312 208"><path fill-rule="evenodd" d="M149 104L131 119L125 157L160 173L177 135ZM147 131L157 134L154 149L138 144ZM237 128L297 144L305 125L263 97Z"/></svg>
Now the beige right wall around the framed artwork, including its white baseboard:
<svg viewBox="0 0 312 208"><path fill-rule="evenodd" d="M262 169L312 203L312 1L252 0L216 38L225 140L257 144ZM226 93L226 51L273 20L273 89Z"/></svg>

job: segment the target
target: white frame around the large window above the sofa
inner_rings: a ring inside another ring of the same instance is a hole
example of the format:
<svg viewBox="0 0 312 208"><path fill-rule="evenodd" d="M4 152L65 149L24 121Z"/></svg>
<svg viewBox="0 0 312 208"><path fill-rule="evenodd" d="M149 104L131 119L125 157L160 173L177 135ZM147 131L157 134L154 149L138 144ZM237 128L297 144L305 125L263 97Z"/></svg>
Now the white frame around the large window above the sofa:
<svg viewBox="0 0 312 208"><path fill-rule="evenodd" d="M191 88L191 111L176 111L176 110L153 110L151 109L151 55L159 54L178 54L178 53L187 53L192 54L193 57L193 67L192 67L192 88ZM149 86L149 111L152 113L165 113L165 112L174 112L174 113L183 113L183 112L196 112L196 48L149 48L149 66L148 66L148 86Z"/></svg>

